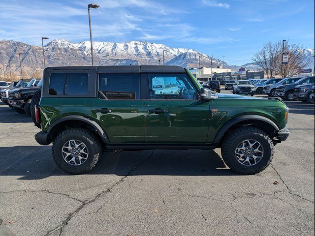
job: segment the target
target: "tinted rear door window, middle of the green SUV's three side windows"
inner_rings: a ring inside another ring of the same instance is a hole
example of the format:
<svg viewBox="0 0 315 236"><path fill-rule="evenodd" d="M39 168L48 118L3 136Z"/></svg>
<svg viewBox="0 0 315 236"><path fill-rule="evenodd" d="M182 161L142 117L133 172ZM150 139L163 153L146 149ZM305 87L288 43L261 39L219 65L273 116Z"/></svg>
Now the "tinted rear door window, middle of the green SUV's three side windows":
<svg viewBox="0 0 315 236"><path fill-rule="evenodd" d="M108 99L140 99L140 75L100 74L99 91Z"/></svg>

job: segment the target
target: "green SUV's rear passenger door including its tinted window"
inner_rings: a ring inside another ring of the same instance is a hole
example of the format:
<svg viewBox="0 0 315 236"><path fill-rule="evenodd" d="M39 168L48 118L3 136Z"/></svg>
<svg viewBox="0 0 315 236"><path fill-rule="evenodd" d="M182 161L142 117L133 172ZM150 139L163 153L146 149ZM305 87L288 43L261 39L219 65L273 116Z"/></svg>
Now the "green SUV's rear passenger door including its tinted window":
<svg viewBox="0 0 315 236"><path fill-rule="evenodd" d="M144 143L144 101L140 74L99 74L99 96L92 99L92 116L111 144Z"/></svg>

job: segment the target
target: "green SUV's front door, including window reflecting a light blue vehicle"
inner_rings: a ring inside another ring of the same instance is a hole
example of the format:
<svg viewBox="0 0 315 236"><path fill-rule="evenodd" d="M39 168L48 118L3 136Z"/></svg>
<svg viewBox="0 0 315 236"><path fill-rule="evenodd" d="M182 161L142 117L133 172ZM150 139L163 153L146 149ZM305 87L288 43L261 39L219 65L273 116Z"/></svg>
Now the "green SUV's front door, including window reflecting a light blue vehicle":
<svg viewBox="0 0 315 236"><path fill-rule="evenodd" d="M149 74L146 143L197 144L207 140L209 101L201 101L186 74Z"/></svg>

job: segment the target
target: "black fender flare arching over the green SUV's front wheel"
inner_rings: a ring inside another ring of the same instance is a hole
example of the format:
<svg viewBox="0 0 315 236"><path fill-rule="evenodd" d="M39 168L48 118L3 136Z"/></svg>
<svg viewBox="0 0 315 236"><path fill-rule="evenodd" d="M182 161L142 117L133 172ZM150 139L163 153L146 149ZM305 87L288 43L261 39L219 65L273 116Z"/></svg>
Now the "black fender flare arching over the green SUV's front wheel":
<svg viewBox="0 0 315 236"><path fill-rule="evenodd" d="M229 120L226 124L224 124L221 129L219 130L219 132L216 135L215 141L213 142L214 144L219 144L223 135L225 134L225 132L232 127L234 124L239 123L241 121L244 120L259 120L259 121L264 121L268 124L270 124L276 131L279 131L278 126L275 124L275 122L273 122L271 119L263 117L263 116L259 116L259 115L243 115L243 116L239 116L236 118L232 118L231 120Z"/></svg>

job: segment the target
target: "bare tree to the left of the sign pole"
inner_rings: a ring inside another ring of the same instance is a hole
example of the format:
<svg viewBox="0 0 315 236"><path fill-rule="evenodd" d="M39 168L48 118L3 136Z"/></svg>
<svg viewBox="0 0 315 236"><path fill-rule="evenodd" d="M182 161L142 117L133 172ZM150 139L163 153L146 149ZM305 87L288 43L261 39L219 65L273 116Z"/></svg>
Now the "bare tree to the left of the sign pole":
<svg viewBox="0 0 315 236"><path fill-rule="evenodd" d="M269 42L264 44L262 49L255 53L252 57L254 64L261 67L265 71L267 78L272 78L277 74L279 57L281 56L279 54L280 50L280 41L276 43Z"/></svg>

